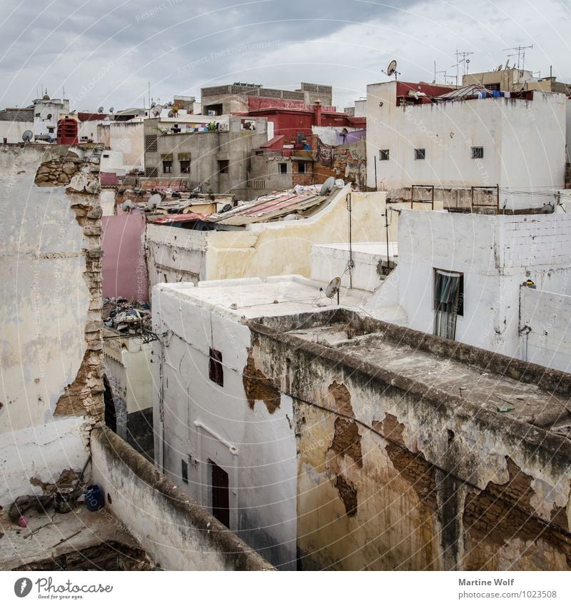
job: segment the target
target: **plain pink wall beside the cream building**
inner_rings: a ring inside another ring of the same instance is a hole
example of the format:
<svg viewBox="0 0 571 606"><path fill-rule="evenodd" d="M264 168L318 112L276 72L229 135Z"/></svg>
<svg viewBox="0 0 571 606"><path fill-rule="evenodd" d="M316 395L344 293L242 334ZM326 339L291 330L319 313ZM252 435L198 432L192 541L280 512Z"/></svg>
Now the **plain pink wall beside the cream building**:
<svg viewBox="0 0 571 606"><path fill-rule="evenodd" d="M148 301L145 215L101 218L103 223L103 296Z"/></svg>

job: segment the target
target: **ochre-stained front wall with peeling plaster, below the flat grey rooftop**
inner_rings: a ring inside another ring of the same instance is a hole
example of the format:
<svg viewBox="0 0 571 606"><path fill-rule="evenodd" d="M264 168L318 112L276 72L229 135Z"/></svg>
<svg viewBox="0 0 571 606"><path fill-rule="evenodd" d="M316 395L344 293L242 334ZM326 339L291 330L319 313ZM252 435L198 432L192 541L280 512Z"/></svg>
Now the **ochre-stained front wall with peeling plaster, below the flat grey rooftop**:
<svg viewBox="0 0 571 606"><path fill-rule="evenodd" d="M261 372L294 398L299 567L571 567L569 440L249 325Z"/></svg>

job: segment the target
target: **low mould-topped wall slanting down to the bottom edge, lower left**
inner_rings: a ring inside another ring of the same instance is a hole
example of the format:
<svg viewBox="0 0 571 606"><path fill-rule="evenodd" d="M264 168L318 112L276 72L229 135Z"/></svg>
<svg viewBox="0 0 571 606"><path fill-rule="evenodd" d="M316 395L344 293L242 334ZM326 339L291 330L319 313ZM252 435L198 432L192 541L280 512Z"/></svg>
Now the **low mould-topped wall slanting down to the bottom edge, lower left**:
<svg viewBox="0 0 571 606"><path fill-rule="evenodd" d="M107 508L126 522L166 570L273 570L231 530L176 488L106 427L92 432L94 482Z"/></svg>

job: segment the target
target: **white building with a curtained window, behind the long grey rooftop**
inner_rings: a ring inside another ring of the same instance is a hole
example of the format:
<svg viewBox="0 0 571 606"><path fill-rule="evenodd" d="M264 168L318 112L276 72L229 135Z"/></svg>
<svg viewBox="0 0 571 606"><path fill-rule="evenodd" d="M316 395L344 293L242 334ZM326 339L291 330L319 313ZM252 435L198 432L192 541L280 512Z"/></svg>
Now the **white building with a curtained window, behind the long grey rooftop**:
<svg viewBox="0 0 571 606"><path fill-rule="evenodd" d="M403 211L381 320L571 370L571 215Z"/></svg>

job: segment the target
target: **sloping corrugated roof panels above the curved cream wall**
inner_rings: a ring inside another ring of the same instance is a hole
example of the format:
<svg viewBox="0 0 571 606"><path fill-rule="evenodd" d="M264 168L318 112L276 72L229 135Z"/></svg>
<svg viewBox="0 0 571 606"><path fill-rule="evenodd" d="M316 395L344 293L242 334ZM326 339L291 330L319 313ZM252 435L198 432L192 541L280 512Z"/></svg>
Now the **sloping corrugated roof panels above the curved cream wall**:
<svg viewBox="0 0 571 606"><path fill-rule="evenodd" d="M315 193L297 194L292 191L261 196L253 202L236 206L226 213L216 213L206 221L222 225L248 225L262 221L271 221L290 213L305 211L328 200L328 196L317 196Z"/></svg>

